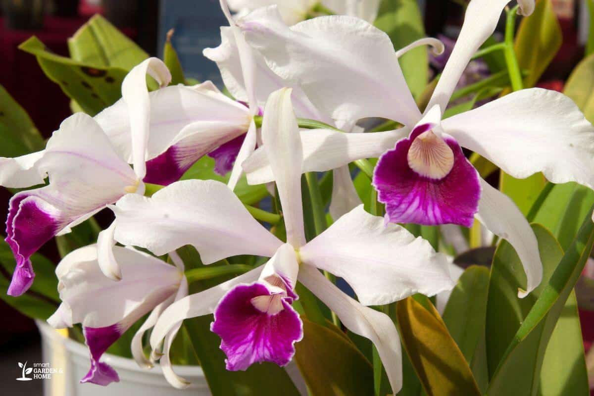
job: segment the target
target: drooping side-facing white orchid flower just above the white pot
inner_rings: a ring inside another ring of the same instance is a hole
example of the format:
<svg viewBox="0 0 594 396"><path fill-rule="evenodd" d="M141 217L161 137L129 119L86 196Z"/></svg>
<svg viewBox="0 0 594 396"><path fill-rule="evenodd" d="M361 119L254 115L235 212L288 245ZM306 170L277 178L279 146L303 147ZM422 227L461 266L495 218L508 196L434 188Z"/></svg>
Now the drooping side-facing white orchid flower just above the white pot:
<svg viewBox="0 0 594 396"><path fill-rule="evenodd" d="M152 366L143 352L142 338L171 303L188 294L188 282L184 265L179 257L176 266L166 264L143 252L131 248L113 248L113 254L122 270L119 282L105 277L97 262L97 246L77 249L56 267L61 305L50 316L48 323L54 328L83 325L83 334L89 346L91 368L81 382L108 385L119 381L116 371L99 362L102 354L128 328L151 312L146 322L132 338L132 354L140 366ZM177 331L172 331L172 337ZM163 373L172 372L169 362L169 347L162 359Z"/></svg>

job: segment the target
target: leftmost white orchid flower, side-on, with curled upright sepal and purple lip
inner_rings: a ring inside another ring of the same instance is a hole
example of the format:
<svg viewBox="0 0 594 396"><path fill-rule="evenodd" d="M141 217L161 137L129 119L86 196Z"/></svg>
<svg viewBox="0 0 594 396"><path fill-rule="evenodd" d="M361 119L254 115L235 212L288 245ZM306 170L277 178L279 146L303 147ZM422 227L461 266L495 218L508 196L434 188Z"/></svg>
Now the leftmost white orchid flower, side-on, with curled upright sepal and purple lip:
<svg viewBox="0 0 594 396"><path fill-rule="evenodd" d="M125 77L122 95L131 113L147 112L146 74L161 85L169 83L170 74L163 62L147 59ZM109 141L99 124L84 113L67 118L49 139L45 150L17 159L2 159L2 185L26 187L49 184L22 191L11 198L7 218L7 242L17 266L8 288L11 296L20 296L31 286L34 271L30 256L56 235L70 231L93 214L123 195L142 194L146 175L144 156L147 131L143 119L136 116L129 123L129 142L134 170ZM20 176L23 175L21 179ZM105 268L118 277L117 271Z"/></svg>

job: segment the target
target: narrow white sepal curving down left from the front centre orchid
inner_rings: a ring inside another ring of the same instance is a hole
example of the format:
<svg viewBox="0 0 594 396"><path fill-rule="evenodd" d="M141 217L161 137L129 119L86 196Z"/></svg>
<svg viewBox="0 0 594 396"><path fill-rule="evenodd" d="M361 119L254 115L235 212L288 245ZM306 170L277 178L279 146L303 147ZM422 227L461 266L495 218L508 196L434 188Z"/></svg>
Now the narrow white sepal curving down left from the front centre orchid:
<svg viewBox="0 0 594 396"><path fill-rule="evenodd" d="M159 317L159 320L150 335L150 344L153 350L159 349L166 334L184 321L184 319L213 313L219 300L225 296L229 290L240 283L252 283L257 281L261 272L262 267L255 268L254 270L239 275L225 283L204 290L204 292L190 294L170 305Z"/></svg>

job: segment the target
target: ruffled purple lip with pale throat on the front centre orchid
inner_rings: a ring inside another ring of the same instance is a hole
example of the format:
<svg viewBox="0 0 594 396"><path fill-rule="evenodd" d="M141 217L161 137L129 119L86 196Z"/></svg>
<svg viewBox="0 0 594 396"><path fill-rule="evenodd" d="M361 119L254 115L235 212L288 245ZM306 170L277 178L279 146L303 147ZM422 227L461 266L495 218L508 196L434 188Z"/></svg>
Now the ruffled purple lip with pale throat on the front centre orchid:
<svg viewBox="0 0 594 396"><path fill-rule="evenodd" d="M221 337L228 370L245 370L253 363L285 366L290 362L295 343L303 338L303 325L292 301L284 293L273 294L260 282L236 286L221 299L211 331Z"/></svg>

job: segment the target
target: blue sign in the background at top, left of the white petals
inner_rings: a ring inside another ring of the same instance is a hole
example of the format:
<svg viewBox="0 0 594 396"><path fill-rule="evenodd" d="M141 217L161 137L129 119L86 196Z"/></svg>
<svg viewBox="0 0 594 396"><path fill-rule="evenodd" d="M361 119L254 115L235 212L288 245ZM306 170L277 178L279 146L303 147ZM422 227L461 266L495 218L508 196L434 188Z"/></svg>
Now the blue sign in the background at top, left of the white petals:
<svg viewBox="0 0 594 396"><path fill-rule="evenodd" d="M228 25L219 1L161 0L159 14L159 56L163 56L166 33L173 28L173 47L178 52L186 77L198 81L211 80L221 87L219 69L202 55L204 48L220 44L220 27Z"/></svg>

